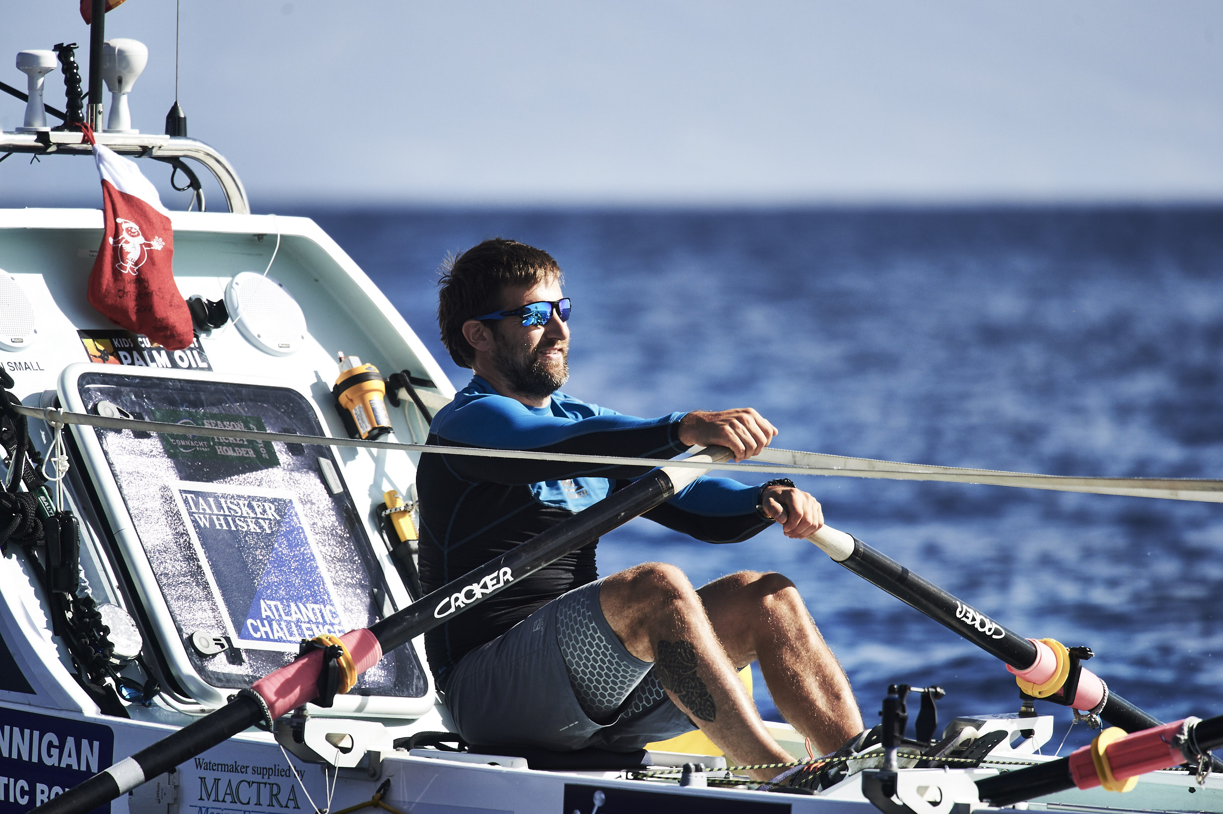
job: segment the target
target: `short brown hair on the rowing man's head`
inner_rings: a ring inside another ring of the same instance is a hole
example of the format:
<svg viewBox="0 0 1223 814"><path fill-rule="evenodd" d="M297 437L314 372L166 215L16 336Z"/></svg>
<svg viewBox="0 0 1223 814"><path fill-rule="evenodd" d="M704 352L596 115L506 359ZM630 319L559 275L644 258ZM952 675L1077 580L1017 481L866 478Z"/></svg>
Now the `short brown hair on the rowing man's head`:
<svg viewBox="0 0 1223 814"><path fill-rule="evenodd" d="M472 246L459 257L446 258L438 285L438 328L442 343L461 368L470 368L476 354L462 335L468 319L501 308L506 288L531 287L564 274L552 255L526 243L494 237Z"/></svg>

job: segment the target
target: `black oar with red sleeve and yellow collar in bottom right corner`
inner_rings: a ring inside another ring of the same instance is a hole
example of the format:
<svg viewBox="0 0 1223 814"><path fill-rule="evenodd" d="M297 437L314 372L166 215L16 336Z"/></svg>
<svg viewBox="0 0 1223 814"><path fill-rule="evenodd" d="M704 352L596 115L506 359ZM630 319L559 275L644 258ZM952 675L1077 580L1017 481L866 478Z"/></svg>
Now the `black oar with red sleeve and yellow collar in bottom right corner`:
<svg viewBox="0 0 1223 814"><path fill-rule="evenodd" d="M977 794L1000 808L1075 787L1130 791L1139 775L1183 763L1197 766L1201 782L1211 749L1219 747L1223 747L1223 715L1205 721L1186 717L1132 735L1104 730L1090 744L1059 760L978 780Z"/></svg>

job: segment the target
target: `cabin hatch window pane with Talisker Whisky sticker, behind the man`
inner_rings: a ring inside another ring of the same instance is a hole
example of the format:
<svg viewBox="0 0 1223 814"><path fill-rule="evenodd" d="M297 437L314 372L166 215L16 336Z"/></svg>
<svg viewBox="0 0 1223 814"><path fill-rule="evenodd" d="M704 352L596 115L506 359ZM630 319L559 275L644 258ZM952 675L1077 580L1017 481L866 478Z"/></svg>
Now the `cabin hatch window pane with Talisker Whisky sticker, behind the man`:
<svg viewBox="0 0 1223 814"><path fill-rule="evenodd" d="M324 434L309 402L289 387L88 372L77 391L91 413ZM106 429L97 438L157 583L143 589L165 598L191 665L209 684L248 687L291 661L300 639L382 618L388 587L351 495L342 485L334 491L330 447ZM198 632L232 647L202 655L190 644ZM427 692L407 647L352 689Z"/></svg>

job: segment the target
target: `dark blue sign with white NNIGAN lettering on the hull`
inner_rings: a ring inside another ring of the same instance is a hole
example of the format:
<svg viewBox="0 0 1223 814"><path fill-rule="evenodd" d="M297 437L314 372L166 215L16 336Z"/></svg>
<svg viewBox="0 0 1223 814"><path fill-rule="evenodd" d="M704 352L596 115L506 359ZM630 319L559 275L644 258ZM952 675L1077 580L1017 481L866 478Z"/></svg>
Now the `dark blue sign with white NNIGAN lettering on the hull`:
<svg viewBox="0 0 1223 814"><path fill-rule="evenodd" d="M110 766L109 726L0 710L0 814L18 814L59 797ZM110 803L93 810L109 813Z"/></svg>

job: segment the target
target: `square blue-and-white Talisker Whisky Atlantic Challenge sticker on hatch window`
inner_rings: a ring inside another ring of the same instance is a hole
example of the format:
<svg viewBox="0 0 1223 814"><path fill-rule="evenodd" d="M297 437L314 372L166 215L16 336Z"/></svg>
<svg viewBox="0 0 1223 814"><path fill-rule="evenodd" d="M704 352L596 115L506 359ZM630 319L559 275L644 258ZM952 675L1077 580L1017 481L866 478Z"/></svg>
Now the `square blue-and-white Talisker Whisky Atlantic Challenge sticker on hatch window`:
<svg viewBox="0 0 1223 814"><path fill-rule="evenodd" d="M291 493L187 480L171 488L224 632L240 648L296 650L301 639L349 631Z"/></svg>

